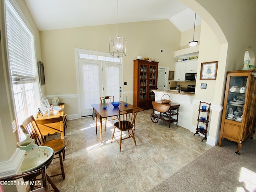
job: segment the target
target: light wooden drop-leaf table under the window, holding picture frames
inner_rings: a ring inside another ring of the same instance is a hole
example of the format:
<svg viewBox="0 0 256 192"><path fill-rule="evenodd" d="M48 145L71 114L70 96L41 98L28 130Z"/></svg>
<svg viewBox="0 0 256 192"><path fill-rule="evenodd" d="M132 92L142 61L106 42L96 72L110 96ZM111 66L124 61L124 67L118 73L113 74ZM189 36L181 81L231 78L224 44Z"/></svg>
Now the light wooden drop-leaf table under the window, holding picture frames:
<svg viewBox="0 0 256 192"><path fill-rule="evenodd" d="M43 136L48 134L60 133L62 139L64 139L64 127L63 127L63 116L64 116L64 103L60 103L61 110L59 112L50 111L51 114L38 114L35 117L36 123L40 132Z"/></svg>

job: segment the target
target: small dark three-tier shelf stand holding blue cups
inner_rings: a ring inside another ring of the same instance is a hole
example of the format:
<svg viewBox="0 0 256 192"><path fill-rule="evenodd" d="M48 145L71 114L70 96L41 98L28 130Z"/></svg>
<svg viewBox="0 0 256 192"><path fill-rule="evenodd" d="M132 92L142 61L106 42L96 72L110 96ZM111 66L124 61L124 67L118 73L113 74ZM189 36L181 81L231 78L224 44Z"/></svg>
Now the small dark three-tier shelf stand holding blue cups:
<svg viewBox="0 0 256 192"><path fill-rule="evenodd" d="M208 129L208 123L209 123L209 114L210 114L210 108L211 104L206 102L199 103L199 109L198 109L198 119L197 119L197 126L196 126L196 134L199 135L199 133L204 135L204 139L207 139L207 129ZM201 127L201 128L200 128Z"/></svg>

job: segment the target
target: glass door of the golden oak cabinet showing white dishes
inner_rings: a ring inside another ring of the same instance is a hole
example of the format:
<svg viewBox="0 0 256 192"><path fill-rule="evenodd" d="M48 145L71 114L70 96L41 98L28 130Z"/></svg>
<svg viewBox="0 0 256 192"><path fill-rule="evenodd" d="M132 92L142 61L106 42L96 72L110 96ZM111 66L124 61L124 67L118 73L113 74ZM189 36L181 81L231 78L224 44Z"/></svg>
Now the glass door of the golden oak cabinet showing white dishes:
<svg viewBox="0 0 256 192"><path fill-rule="evenodd" d="M226 108L226 118L242 121L244 114L244 102L246 97L246 88L248 84L248 76L232 76L230 77L230 85L228 92L228 103Z"/></svg>

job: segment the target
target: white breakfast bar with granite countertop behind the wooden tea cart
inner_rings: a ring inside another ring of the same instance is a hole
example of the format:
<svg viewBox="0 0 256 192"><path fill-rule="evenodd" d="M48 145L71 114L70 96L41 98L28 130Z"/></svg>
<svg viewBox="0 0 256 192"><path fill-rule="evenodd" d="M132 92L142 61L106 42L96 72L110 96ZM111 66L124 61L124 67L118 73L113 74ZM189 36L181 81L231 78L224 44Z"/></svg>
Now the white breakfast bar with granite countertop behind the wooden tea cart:
<svg viewBox="0 0 256 192"><path fill-rule="evenodd" d="M169 97L165 95L168 94L171 102L180 104L178 125L188 130L192 129L193 101L195 93L183 91L179 93L177 90L153 90L153 92L156 101L169 99Z"/></svg>

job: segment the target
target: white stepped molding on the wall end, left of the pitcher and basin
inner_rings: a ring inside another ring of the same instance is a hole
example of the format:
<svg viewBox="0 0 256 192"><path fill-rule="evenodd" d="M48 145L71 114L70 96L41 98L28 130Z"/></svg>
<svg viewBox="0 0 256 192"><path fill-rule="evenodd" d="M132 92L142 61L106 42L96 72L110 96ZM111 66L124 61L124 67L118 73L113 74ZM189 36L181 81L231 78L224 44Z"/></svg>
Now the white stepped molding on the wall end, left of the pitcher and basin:
<svg viewBox="0 0 256 192"><path fill-rule="evenodd" d="M9 160L0 162L0 178L10 177L18 173L24 160L25 152L25 150L16 148Z"/></svg>

